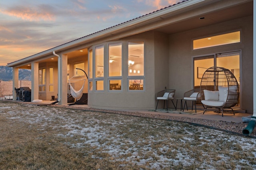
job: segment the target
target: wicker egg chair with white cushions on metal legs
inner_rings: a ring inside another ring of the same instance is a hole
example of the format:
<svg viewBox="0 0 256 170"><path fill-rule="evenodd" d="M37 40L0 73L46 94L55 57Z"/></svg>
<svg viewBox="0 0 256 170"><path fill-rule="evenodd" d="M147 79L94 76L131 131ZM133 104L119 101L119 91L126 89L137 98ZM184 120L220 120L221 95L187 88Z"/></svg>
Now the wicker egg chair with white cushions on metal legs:
<svg viewBox="0 0 256 170"><path fill-rule="evenodd" d="M238 104L239 84L230 70L210 67L202 76L200 95L204 112L209 107L217 108L223 117L224 109L231 109L234 113L232 107Z"/></svg>

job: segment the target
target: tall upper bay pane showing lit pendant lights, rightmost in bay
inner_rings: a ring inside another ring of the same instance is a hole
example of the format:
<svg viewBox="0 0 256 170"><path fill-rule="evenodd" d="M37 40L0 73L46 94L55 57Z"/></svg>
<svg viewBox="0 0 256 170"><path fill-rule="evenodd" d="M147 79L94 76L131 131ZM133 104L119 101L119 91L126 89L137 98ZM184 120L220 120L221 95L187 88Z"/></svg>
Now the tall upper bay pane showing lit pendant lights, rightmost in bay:
<svg viewBox="0 0 256 170"><path fill-rule="evenodd" d="M144 76L144 42L128 43L128 76Z"/></svg>

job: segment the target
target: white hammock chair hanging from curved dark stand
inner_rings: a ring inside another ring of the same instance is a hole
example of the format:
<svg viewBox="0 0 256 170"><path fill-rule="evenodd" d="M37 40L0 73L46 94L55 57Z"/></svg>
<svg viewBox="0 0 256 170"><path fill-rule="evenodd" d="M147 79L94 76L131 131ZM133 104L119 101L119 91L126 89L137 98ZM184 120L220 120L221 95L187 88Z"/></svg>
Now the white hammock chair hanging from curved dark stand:
<svg viewBox="0 0 256 170"><path fill-rule="evenodd" d="M82 70L81 68L76 68L77 70ZM84 72L84 74L86 75L86 78L87 78L87 80L88 80L88 76L87 76L87 74L86 74L86 72L84 71L84 70L82 70L83 72ZM77 76L76 76L77 77ZM79 77L79 76L78 76ZM82 76L80 76L80 77L82 77ZM70 86L70 93L71 93L71 95L72 95L72 97L74 98L74 99L76 99L76 102L74 102L74 103L72 103L72 104L69 104L69 106L71 106L71 105L75 105L75 104L85 104L85 102L88 100L87 98L85 99L85 100L83 100L82 102L78 102L78 100L80 100L81 98L82 98L82 96L83 96L83 90L84 90L84 84L85 84L85 78L84 79L79 79L79 80L84 80L84 83L83 83L83 86L82 86L82 88L80 89L80 90L75 90L73 87L72 87L72 85L70 84L70 81L72 81L71 79L72 78L74 78L74 76L73 77L71 77L69 80L68 80L68 82L69 82L69 86Z"/></svg>

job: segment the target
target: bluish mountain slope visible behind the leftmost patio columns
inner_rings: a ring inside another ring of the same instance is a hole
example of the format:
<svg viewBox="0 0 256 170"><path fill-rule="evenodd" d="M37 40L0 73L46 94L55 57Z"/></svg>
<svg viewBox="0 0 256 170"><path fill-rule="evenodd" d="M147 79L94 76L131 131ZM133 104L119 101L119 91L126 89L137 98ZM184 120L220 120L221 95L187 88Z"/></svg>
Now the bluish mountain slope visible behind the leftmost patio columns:
<svg viewBox="0 0 256 170"><path fill-rule="evenodd" d="M0 66L0 80L12 80L12 67ZM19 69L19 80L31 81L31 70Z"/></svg>

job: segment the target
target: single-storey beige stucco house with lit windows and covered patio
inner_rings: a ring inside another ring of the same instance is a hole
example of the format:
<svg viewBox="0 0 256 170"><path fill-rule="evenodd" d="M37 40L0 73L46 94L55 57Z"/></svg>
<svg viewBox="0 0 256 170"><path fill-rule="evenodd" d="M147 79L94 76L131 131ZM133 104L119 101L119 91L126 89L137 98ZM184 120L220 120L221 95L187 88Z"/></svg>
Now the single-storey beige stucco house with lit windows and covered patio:
<svg viewBox="0 0 256 170"><path fill-rule="evenodd" d="M152 109L164 87L182 97L200 85L206 68L221 66L240 84L240 109L252 113L255 3L184 0L8 63L13 88L19 88L18 69L31 69L32 100L58 96L66 105L68 79L83 74L80 68L88 74L83 92L89 107Z"/></svg>

